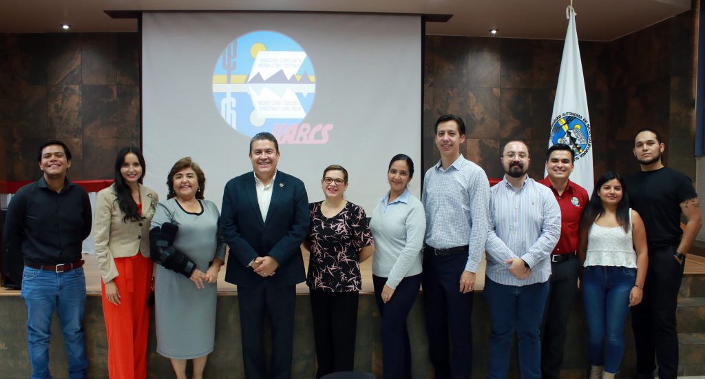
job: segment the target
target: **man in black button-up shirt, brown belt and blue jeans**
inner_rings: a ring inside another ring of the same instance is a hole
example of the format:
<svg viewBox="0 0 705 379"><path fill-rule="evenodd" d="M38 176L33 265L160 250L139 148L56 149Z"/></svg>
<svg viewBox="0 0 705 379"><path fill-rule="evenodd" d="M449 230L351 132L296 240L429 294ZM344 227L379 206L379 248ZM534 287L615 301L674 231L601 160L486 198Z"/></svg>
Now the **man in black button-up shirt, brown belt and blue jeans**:
<svg viewBox="0 0 705 379"><path fill-rule="evenodd" d="M37 155L42 178L20 188L7 208L6 253L22 255L22 299L27 305L27 339L32 378L49 378L51 316L59 315L69 377L85 378L82 320L86 288L81 243L90 234L88 194L66 179L71 151L50 140Z"/></svg>

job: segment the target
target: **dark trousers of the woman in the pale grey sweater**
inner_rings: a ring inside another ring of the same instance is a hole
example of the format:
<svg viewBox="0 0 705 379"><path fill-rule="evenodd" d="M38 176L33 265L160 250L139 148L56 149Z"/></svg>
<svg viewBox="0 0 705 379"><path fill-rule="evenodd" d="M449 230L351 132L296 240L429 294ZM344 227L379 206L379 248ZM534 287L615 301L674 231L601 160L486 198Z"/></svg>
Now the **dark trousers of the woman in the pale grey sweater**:
<svg viewBox="0 0 705 379"><path fill-rule="evenodd" d="M382 369L384 379L411 378L411 344L406 318L419 296L422 274L405 277L397 284L392 298L382 302L386 277L372 275L374 299L381 315Z"/></svg>

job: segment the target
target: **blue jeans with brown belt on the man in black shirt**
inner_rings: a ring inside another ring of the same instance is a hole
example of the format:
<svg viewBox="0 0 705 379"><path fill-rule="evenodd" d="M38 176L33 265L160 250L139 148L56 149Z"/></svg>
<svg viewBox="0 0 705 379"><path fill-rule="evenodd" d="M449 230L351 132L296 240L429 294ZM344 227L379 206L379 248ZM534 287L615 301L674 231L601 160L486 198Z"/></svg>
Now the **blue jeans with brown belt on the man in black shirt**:
<svg viewBox="0 0 705 379"><path fill-rule="evenodd" d="M81 325L86 303L83 268L57 273L25 266L22 299L27 305L27 339L32 379L51 378L49 339L54 311L59 315L66 345L68 376L71 379L85 378L88 359Z"/></svg>

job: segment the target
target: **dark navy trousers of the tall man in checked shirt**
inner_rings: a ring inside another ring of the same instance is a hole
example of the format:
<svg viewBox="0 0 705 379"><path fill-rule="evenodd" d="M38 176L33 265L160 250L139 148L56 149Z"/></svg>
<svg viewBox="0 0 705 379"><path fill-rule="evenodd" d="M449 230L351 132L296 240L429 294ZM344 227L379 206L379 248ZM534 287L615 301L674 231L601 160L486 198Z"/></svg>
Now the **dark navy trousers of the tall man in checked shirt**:
<svg viewBox="0 0 705 379"><path fill-rule="evenodd" d="M424 308L429 355L436 379L470 378L472 373L472 299L460 292L467 253L438 256L424 252ZM450 332L450 338L448 337ZM453 347L450 356L448 342Z"/></svg>

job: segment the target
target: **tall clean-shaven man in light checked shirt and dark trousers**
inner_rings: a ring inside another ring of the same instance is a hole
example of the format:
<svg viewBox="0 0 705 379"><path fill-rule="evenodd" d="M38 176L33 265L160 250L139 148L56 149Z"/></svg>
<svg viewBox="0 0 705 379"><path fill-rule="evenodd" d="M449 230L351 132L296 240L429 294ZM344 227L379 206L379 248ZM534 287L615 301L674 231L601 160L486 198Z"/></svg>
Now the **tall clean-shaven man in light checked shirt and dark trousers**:
<svg viewBox="0 0 705 379"><path fill-rule="evenodd" d="M422 283L429 356L436 379L470 378L472 291L487 240L489 181L482 168L460 154L465 142L462 119L446 114L435 127L441 160L426 172L422 192L427 225Z"/></svg>

